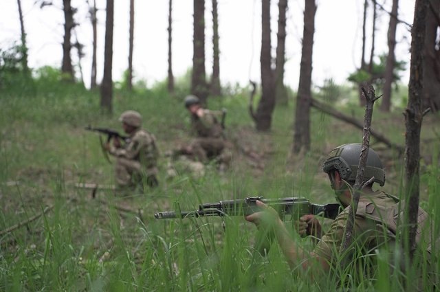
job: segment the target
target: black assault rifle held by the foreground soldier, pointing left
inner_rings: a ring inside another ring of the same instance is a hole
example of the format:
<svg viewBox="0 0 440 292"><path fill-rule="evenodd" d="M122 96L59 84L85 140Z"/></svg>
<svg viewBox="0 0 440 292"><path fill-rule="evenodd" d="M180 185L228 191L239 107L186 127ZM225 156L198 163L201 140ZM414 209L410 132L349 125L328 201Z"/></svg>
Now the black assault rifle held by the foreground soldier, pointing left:
<svg viewBox="0 0 440 292"><path fill-rule="evenodd" d="M279 214L281 220L298 220L305 214L321 215L325 218L334 219L340 212L339 203L328 203L325 205L312 204L308 199L287 197L277 199L263 199L263 196L252 196L245 199L219 201L218 203L204 203L199 205L199 210L184 212L158 212L156 219L173 219L203 216L247 216L261 211L256 201L262 201L273 207Z"/></svg>

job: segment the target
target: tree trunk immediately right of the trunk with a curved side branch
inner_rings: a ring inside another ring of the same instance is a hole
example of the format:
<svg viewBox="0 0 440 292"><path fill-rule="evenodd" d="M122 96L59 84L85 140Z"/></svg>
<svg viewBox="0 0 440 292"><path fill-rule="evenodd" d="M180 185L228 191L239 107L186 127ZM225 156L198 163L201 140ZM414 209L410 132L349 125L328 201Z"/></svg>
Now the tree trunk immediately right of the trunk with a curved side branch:
<svg viewBox="0 0 440 292"><path fill-rule="evenodd" d="M275 100L278 104L286 105L287 91L284 86L285 40L286 40L286 10L287 0L278 2L278 34L275 60Z"/></svg>

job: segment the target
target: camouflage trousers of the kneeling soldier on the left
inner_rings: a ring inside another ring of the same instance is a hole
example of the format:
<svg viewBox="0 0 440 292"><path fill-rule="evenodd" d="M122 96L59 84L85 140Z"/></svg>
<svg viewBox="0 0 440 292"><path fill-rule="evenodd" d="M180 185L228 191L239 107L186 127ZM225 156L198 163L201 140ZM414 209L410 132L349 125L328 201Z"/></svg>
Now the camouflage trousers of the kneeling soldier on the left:
<svg viewBox="0 0 440 292"><path fill-rule="evenodd" d="M158 184L156 178L157 169L148 169L147 172L142 170L139 161L118 157L115 164L115 179L118 186L129 187L137 186L142 183L142 179L146 179L146 184L155 187Z"/></svg>

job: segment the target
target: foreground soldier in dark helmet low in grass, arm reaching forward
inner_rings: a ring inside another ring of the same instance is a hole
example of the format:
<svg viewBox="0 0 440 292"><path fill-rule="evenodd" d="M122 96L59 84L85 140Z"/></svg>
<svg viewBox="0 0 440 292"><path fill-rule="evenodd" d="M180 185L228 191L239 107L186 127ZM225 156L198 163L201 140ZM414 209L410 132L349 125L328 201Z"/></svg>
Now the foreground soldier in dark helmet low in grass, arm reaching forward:
<svg viewBox="0 0 440 292"><path fill-rule="evenodd" d="M255 223L260 228L273 230L289 264L297 269L303 268L305 271L311 271L316 279L322 271L324 273L345 271L344 266L349 264L355 269L352 276L357 279L354 280L362 281L362 276L374 278L377 275L375 275L375 269L371 267L375 267L374 258L377 253L388 257L387 262L391 270L397 268L400 269L399 272L404 272L407 268L404 266L405 260L399 256L403 254L401 243L397 242L400 233L398 229L403 221L405 208L403 203L399 206L397 197L386 194L382 190L373 190L373 183L384 186L385 172L379 156L371 148L366 161L364 179L368 181L374 177L374 181L361 190L353 227L354 248L347 249L348 254L344 255L344 260L341 260L340 247L347 224L348 206L351 203L351 190L358 172L360 153L361 144L344 144L332 150L322 166L322 170L329 175L336 199L344 210L333 221L329 231L322 236L320 236L320 224L313 215L304 215L300 218L298 233L315 234L319 238L312 251L303 249L292 240L285 224L274 212L275 210L261 201L256 203L263 211L245 217L247 221ZM428 219L428 214L419 208L417 244L410 247L412 254L415 257L419 256L419 259L429 259L434 256L431 254L430 229L431 221ZM393 253L397 254L393 256ZM362 271L363 275L360 275ZM421 288L417 281L407 284L414 285L415 290Z"/></svg>

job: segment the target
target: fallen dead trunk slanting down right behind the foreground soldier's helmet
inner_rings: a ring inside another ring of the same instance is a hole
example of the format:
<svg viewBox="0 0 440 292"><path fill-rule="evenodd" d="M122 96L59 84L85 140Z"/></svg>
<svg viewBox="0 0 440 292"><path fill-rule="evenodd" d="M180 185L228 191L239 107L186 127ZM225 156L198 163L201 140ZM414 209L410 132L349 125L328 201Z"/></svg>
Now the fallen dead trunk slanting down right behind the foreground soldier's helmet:
<svg viewBox="0 0 440 292"><path fill-rule="evenodd" d="M336 111L336 109L331 108L331 106L324 104L322 102L319 102L318 100L311 98L311 106L314 106L316 109L322 111L323 113L327 113L333 117L336 117L339 120L342 120L344 122L347 122L349 124L352 124L356 128L364 129L364 125L359 122L358 120L354 119L353 117L349 117L348 115L344 115L344 113L341 113L340 111ZM380 142L386 144L389 148L394 148L399 152L399 155L404 153L404 147L399 146L390 140L386 139L384 135L381 133L377 133L376 131L373 131L370 129L370 134L375 137L375 139L379 140Z"/></svg>

